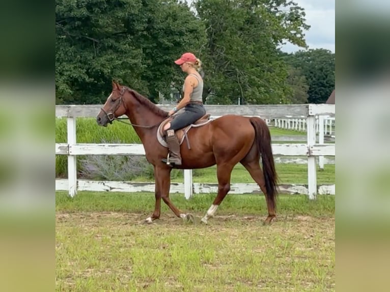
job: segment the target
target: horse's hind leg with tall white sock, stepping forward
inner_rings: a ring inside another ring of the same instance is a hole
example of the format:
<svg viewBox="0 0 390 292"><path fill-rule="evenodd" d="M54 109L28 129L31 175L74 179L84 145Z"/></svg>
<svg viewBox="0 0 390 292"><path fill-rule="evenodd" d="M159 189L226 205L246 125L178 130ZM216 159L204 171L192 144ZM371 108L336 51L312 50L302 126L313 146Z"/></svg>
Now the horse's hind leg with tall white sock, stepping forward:
<svg viewBox="0 0 390 292"><path fill-rule="evenodd" d="M233 167L234 165L231 164L217 165L218 194L206 215L201 219L201 222L207 224L208 219L214 217L219 204L222 202L222 200L224 200L225 196L230 191L230 177Z"/></svg>

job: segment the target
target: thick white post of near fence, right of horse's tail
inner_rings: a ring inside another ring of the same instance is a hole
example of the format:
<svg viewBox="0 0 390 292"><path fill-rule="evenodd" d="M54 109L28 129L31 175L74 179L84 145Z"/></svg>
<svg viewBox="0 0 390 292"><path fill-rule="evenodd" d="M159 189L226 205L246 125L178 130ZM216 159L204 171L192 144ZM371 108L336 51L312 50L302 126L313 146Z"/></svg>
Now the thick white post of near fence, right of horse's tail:
<svg viewBox="0 0 390 292"><path fill-rule="evenodd" d="M308 115L308 187L309 199L315 199L317 195L317 172L316 172L316 157L311 156L310 148L316 143L316 116Z"/></svg>

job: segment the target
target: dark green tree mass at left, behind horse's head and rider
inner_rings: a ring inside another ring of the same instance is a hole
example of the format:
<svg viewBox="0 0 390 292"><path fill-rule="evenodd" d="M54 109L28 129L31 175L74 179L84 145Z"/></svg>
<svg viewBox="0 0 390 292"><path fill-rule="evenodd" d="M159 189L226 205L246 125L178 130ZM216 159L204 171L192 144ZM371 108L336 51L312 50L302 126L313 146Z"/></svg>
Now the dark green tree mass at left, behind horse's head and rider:
<svg viewBox="0 0 390 292"><path fill-rule="evenodd" d="M205 36L175 0L57 0L55 21L56 100L63 103L101 103L112 79L151 99L168 95L183 78L174 60Z"/></svg>

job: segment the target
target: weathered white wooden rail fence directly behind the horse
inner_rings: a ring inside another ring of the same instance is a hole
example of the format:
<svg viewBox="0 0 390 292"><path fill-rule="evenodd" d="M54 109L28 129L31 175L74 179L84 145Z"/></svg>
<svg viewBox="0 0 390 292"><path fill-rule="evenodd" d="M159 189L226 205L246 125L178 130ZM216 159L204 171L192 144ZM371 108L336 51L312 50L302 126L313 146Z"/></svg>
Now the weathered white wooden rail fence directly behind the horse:
<svg viewBox="0 0 390 292"><path fill-rule="evenodd" d="M332 104L305 104L305 105L206 105L206 110L212 116L230 113L241 115L259 115L263 119L284 119L306 116L307 143L304 144L272 144L275 156L307 156L308 160L308 187L291 184L280 185L281 193L307 194L310 199L317 194L335 194L335 185L317 186L316 157L335 156L335 144L316 143L316 116L335 115L335 105ZM76 142L76 118L95 117L100 111L100 105L66 105L56 106L57 117L67 117L67 143L56 143L55 154L68 156L68 179L55 180L55 190L67 190L74 196L77 190L89 191L118 191L118 192L154 192L154 183L136 182L106 182L77 180L77 155L145 155L142 144L89 144ZM170 107L161 106L169 110ZM98 127L96 125L96 127ZM172 183L171 192L185 194L186 198L193 193L217 192L218 185L192 183L192 170L184 170L184 184ZM232 194L260 193L257 184L232 184Z"/></svg>

